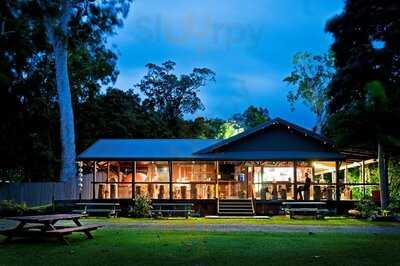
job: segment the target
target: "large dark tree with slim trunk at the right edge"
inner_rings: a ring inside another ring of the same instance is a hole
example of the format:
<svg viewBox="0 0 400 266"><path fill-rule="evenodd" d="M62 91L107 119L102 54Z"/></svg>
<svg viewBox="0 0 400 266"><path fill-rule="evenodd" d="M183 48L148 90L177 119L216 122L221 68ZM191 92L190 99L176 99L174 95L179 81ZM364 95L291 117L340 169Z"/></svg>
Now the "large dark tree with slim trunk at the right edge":
<svg viewBox="0 0 400 266"><path fill-rule="evenodd" d="M400 135L398 14L398 1L348 0L327 24L336 67L327 130L341 145L377 147L382 208L389 202L386 162Z"/></svg>

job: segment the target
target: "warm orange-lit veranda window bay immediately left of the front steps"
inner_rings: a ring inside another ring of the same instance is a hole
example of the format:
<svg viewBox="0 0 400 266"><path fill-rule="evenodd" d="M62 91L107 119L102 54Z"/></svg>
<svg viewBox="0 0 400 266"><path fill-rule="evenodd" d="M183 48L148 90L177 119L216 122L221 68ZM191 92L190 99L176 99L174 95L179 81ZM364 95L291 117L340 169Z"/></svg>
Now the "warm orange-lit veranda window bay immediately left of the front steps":
<svg viewBox="0 0 400 266"><path fill-rule="evenodd" d="M216 169L214 162L173 162L174 199L214 199Z"/></svg>

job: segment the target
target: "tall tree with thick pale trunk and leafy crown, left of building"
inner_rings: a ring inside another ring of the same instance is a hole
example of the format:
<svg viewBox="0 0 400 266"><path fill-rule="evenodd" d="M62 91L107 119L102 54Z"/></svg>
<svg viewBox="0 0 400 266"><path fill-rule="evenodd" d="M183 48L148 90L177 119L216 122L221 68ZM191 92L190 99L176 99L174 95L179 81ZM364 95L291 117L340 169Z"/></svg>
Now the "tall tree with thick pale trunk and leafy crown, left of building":
<svg viewBox="0 0 400 266"><path fill-rule="evenodd" d="M120 16L127 15L129 1L38 0L38 7L54 55L62 146L60 176L62 181L67 181L76 173L74 113L68 74L69 38L73 31L87 29L89 25L100 36L113 33L114 26L122 23ZM104 42L101 37L99 40Z"/></svg>

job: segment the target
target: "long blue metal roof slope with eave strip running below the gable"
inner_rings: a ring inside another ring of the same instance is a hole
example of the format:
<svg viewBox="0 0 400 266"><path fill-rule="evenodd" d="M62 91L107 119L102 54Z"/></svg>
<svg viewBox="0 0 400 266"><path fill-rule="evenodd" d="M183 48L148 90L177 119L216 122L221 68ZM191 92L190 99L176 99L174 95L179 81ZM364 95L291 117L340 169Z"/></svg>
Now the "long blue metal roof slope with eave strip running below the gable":
<svg viewBox="0 0 400 266"><path fill-rule="evenodd" d="M195 152L219 140L198 139L100 139L78 156L78 160L340 160L336 152L252 151Z"/></svg>

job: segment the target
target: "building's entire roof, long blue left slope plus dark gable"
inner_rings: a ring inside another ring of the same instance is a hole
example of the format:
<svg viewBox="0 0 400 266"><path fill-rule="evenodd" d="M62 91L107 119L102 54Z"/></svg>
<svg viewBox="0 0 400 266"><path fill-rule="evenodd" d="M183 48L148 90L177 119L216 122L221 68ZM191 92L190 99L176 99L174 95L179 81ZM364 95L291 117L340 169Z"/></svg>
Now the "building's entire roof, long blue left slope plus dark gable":
<svg viewBox="0 0 400 266"><path fill-rule="evenodd" d="M341 160L344 155L321 135L281 118L226 140L100 139L78 160Z"/></svg>

